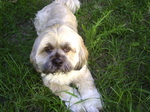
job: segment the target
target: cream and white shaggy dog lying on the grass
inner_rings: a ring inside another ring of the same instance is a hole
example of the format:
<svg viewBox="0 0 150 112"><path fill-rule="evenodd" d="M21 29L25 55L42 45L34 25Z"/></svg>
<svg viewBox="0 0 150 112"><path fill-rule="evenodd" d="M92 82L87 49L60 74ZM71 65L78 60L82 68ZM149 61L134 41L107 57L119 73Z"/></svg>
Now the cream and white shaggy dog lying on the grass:
<svg viewBox="0 0 150 112"><path fill-rule="evenodd" d="M45 86L73 112L99 112L101 95L87 67L88 51L77 31L78 0L55 0L36 14L30 61ZM76 86L72 87L70 84Z"/></svg>

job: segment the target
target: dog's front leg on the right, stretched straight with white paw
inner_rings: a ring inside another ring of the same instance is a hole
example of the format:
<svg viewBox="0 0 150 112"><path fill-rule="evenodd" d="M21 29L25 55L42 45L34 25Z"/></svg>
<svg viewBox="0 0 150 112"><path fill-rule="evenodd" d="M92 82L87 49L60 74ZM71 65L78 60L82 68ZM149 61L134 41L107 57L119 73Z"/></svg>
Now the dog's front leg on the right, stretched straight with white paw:
<svg viewBox="0 0 150 112"><path fill-rule="evenodd" d="M87 112L99 112L102 109L101 95L98 93L89 70L77 82L77 87Z"/></svg>

